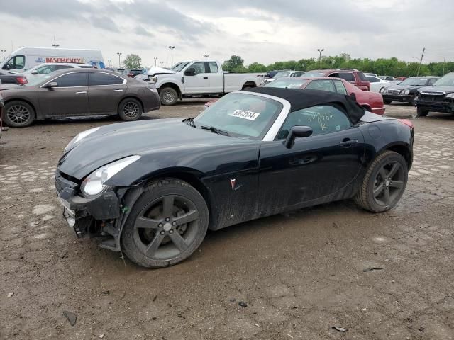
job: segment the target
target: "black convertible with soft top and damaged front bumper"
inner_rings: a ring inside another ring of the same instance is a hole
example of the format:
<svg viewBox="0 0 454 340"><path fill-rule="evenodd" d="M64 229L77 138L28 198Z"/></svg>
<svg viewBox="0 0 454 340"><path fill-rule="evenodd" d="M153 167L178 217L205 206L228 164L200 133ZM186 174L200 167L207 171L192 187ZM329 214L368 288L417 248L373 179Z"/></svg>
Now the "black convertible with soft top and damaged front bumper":
<svg viewBox="0 0 454 340"><path fill-rule="evenodd" d="M104 237L100 246L164 267L190 256L208 228L348 198L389 210L404 193L413 140L409 121L342 94L250 89L194 120L79 133L56 188L78 237Z"/></svg>

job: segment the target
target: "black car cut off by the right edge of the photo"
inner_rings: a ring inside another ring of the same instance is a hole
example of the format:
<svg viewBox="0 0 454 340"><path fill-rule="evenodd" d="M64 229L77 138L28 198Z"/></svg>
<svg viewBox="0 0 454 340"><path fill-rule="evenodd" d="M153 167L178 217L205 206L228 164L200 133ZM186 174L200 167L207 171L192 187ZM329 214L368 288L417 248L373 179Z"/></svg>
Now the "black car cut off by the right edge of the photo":
<svg viewBox="0 0 454 340"><path fill-rule="evenodd" d="M445 74L432 86L418 89L415 98L419 116L426 116L430 111L454 113L454 72Z"/></svg>

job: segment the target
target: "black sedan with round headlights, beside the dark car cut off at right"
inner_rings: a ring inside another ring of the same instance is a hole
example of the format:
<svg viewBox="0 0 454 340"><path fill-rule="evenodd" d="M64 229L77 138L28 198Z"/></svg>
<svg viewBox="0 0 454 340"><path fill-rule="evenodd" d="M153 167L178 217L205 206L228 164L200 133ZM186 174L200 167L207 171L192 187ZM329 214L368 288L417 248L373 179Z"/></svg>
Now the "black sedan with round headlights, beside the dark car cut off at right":
<svg viewBox="0 0 454 340"><path fill-rule="evenodd" d="M382 96L385 104L390 104L392 101L410 103L414 105L418 89L424 86L433 85L440 77L409 77L399 83L399 85L389 86L382 91Z"/></svg>

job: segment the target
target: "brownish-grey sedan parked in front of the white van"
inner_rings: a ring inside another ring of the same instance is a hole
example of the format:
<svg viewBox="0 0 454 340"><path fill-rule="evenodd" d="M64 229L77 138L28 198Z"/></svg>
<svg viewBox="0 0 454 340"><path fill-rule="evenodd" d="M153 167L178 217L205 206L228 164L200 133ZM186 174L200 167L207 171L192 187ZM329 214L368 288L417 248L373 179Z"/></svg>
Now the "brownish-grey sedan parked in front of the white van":
<svg viewBox="0 0 454 340"><path fill-rule="evenodd" d="M160 108L153 84L102 69L63 69L23 86L3 86L4 123L24 127L34 120L83 115L119 115L138 120Z"/></svg>

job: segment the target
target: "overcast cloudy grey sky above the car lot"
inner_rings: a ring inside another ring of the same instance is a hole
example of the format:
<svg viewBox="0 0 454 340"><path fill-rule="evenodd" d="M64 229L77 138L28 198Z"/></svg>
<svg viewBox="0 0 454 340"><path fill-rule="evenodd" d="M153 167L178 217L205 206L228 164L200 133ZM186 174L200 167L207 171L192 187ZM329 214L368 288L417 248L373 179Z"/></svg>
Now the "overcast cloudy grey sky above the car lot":
<svg viewBox="0 0 454 340"><path fill-rule="evenodd" d="M170 64L209 55L270 64L323 55L454 61L452 0L0 0L0 48L100 49ZM122 57L123 57L122 56Z"/></svg>

